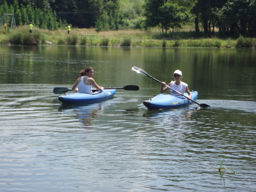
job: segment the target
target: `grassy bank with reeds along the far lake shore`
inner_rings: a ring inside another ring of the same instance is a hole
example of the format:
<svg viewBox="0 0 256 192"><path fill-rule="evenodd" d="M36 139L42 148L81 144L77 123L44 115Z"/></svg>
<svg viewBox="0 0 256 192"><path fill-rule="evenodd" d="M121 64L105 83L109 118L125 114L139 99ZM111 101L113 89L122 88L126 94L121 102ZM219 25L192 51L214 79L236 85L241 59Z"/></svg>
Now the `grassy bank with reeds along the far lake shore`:
<svg viewBox="0 0 256 192"><path fill-rule="evenodd" d="M162 38L160 29L141 31L96 32L94 29L73 28L55 31L34 29L29 34L27 26L18 27L11 33L0 32L1 45L81 45L81 46L134 46L134 47L256 47L255 38L238 39L193 38L193 31L175 32L173 38Z"/></svg>

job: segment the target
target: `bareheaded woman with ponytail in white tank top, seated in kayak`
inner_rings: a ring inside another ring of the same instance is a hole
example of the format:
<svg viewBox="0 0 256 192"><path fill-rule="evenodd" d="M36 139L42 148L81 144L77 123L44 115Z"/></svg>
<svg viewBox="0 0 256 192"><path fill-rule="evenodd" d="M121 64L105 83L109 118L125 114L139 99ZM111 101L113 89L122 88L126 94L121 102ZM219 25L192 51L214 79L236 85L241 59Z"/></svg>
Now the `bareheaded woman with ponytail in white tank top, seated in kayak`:
<svg viewBox="0 0 256 192"><path fill-rule="evenodd" d="M102 91L104 87L100 87L95 83L94 79L92 78L93 75L94 70L92 67L87 67L82 70L78 79L76 80L76 83L73 85L72 90L79 93L91 94L93 86L98 91Z"/></svg>

